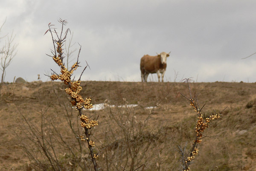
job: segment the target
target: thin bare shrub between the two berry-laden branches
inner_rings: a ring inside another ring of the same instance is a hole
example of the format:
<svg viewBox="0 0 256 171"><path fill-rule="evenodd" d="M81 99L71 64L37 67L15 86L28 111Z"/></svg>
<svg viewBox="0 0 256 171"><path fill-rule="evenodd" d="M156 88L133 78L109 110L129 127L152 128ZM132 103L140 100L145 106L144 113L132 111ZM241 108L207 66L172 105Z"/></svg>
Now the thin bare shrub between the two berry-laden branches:
<svg viewBox="0 0 256 171"><path fill-rule="evenodd" d="M101 148L105 160L100 162L108 171L162 170L167 158L160 156L172 136L166 136L164 125L152 126L151 111L141 115L125 98L123 101L115 107L108 103L108 119L101 122L105 127Z"/></svg>

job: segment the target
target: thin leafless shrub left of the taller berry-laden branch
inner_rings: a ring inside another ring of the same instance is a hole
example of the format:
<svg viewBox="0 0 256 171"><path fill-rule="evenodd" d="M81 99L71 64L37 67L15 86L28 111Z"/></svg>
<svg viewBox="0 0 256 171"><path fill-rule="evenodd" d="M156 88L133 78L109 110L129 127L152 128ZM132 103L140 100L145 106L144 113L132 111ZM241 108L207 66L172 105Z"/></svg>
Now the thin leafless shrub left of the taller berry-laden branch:
<svg viewBox="0 0 256 171"><path fill-rule="evenodd" d="M52 90L57 89L56 85L52 86ZM40 106L31 111L38 113L38 116L19 111L20 117L17 117L19 131L15 133L20 147L29 158L27 170L91 170L89 150L79 140L80 119L76 111L69 103L59 99L58 94L53 93L52 100L47 104L41 102L40 95L38 91Z"/></svg>

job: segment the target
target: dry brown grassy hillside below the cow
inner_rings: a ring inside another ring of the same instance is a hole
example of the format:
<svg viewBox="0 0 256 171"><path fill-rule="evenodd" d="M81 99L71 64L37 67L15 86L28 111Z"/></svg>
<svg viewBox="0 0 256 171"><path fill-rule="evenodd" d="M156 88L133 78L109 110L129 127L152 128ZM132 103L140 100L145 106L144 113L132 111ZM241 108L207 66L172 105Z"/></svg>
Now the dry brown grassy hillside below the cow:
<svg viewBox="0 0 256 171"><path fill-rule="evenodd" d="M179 94L189 95L186 83L87 81L82 84L83 97L91 96L93 104L106 104L103 110L84 111L92 117L99 116L100 125L92 133L102 170L128 171L143 164L138 171L179 169L177 145L188 142L187 148L191 147L197 121L189 101ZM221 119L213 120L204 132L207 137L202 139L191 170L255 170L256 84L190 83L190 87L201 106L206 104L204 116L227 107ZM51 144L47 149L54 151L61 164L70 170L79 170L81 163L90 166L86 145L76 139L80 129L76 110L70 107L64 89L60 82L3 87L0 171L32 171L33 161L29 161L24 150L40 161L47 161L36 146L42 138ZM129 108L125 104L138 106ZM35 130L35 134L29 130Z"/></svg>

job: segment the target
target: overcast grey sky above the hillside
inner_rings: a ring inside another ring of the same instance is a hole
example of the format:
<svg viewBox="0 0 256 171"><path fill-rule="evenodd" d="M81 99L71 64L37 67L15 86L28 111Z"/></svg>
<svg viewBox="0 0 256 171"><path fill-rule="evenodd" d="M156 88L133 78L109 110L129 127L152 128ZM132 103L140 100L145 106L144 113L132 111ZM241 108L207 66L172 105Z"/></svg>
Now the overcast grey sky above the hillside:
<svg viewBox="0 0 256 171"><path fill-rule="evenodd" d="M0 0L0 36L12 31L19 44L5 81L58 71L45 55L52 49L48 23L69 23L74 49L90 69L83 81L140 81L140 58L171 52L165 81L256 82L254 0ZM70 37L69 37L70 38ZM69 39L68 38L68 39ZM0 45L3 45L1 39ZM78 51L76 51L78 52ZM73 58L76 57L74 54ZM80 75L82 68L77 70ZM157 81L157 75L149 79Z"/></svg>

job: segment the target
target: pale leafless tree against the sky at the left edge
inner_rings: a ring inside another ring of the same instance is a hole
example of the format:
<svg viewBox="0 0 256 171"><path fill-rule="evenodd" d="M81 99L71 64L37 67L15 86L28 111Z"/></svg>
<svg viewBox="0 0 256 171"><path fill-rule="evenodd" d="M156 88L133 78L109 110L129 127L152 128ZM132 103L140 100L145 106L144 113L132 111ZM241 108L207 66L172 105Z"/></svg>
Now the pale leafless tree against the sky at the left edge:
<svg viewBox="0 0 256 171"><path fill-rule="evenodd" d="M4 21L4 23L6 20ZM3 23L3 24L4 24ZM0 27L0 31L3 27ZM4 38L5 36L1 37L0 39ZM0 91L3 85L4 78L6 76L6 68L11 64L12 59L15 57L17 54L16 48L17 48L17 43L14 42L15 40L15 35L7 36L7 40L5 41L5 44L3 47L0 49L0 70L2 71L1 75L1 82L0 82Z"/></svg>

